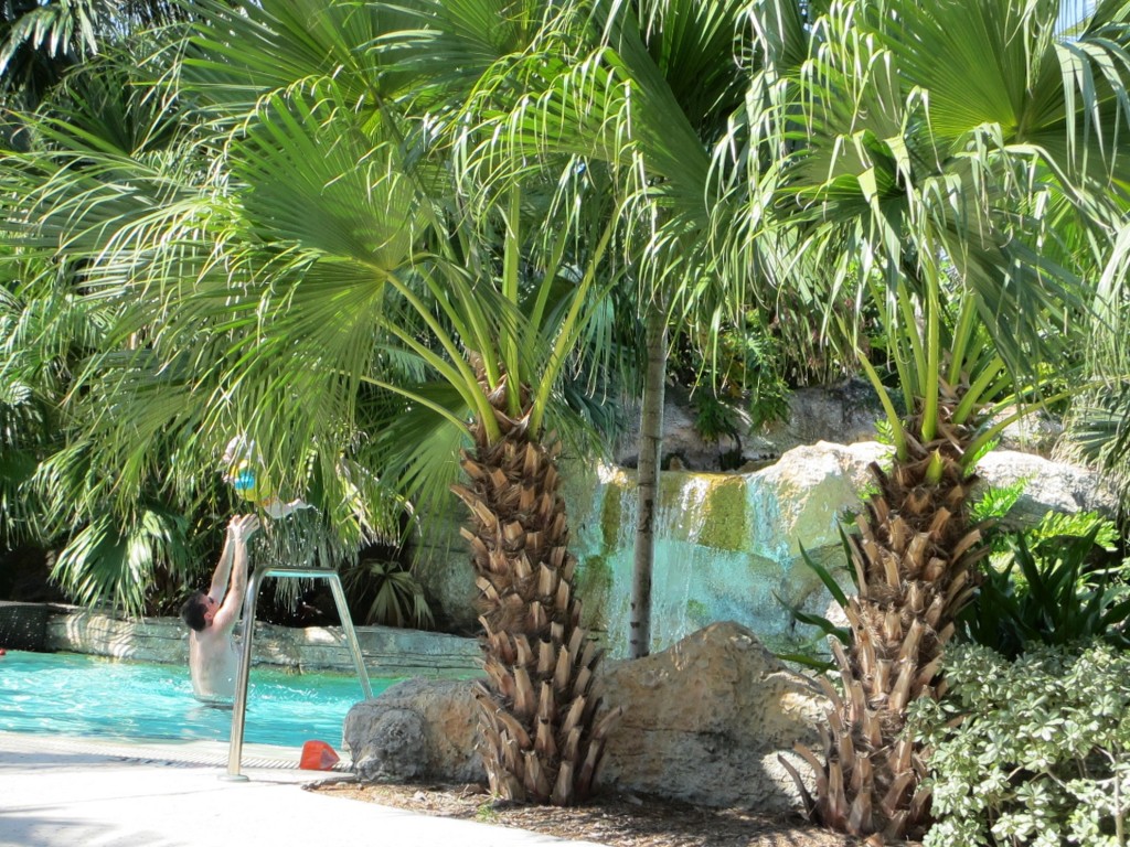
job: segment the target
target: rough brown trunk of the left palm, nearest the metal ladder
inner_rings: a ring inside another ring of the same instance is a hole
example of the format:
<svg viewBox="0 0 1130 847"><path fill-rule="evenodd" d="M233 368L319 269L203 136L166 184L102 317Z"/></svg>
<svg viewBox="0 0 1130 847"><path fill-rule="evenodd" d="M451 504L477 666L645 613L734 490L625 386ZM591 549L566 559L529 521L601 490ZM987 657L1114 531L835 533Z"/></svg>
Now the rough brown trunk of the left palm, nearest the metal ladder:
<svg viewBox="0 0 1130 847"><path fill-rule="evenodd" d="M503 391L484 390L502 437L473 427L469 482L453 489L471 510L462 534L486 631L479 749L497 796L568 805L590 795L620 709L601 715L592 690L601 650L580 623L557 445L532 436L528 412L507 414Z"/></svg>

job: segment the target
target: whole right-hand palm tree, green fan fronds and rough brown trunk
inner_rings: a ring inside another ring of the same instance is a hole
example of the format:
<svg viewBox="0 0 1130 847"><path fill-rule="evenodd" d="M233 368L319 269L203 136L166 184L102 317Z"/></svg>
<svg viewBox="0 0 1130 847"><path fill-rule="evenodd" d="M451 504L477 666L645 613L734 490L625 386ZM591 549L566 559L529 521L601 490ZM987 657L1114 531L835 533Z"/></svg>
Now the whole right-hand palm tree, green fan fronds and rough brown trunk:
<svg viewBox="0 0 1130 847"><path fill-rule="evenodd" d="M903 727L912 700L942 690L983 555L966 500L1005 425L989 412L1062 373L1086 308L1078 274L1094 264L1083 254L1110 243L1109 198L1130 184L1113 142L1125 75L1111 70L1130 67L1125 10L1099 3L1069 41L1058 15L1012 0L835 6L796 95L777 101L796 154L746 168L775 197L764 237L824 274L831 302L858 290L887 315L899 388L861 360L893 466L873 469L851 541L859 592L850 647L834 645L842 691L827 688L824 759L800 751L816 774L810 811L847 832L903 838L928 820L924 751Z"/></svg>

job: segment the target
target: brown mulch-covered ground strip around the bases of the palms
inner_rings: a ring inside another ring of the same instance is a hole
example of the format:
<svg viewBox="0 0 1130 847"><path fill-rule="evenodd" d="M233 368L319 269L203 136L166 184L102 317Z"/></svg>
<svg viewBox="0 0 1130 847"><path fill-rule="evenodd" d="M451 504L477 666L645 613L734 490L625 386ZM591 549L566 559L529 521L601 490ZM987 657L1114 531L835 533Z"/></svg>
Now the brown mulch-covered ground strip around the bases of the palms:
<svg viewBox="0 0 1130 847"><path fill-rule="evenodd" d="M584 805L560 809L494 803L480 785L377 785L344 779L323 783L312 791L607 847L855 847L863 844L800 819L706 809L629 794L605 794Z"/></svg>

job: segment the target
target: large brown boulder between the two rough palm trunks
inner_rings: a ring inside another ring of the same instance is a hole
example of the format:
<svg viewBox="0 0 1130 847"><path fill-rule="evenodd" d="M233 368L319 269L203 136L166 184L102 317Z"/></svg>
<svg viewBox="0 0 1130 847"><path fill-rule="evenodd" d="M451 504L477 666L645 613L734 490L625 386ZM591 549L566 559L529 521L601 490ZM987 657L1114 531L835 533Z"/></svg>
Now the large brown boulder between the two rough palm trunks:
<svg viewBox="0 0 1130 847"><path fill-rule="evenodd" d="M601 785L702 805L801 809L777 756L816 742L824 700L749 629L714 623L662 653L610 663L601 692L625 709Z"/></svg>

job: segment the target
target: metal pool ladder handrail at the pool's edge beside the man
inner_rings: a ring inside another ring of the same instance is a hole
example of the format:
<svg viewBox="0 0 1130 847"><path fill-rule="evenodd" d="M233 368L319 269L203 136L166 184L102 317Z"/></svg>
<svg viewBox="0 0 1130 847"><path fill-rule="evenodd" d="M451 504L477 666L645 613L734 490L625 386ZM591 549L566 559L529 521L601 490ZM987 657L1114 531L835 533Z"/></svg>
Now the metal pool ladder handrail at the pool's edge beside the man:
<svg viewBox="0 0 1130 847"><path fill-rule="evenodd" d="M263 580L273 576L279 579L328 579L330 590L333 592L333 602L338 606L338 617L341 619L341 629L346 636L349 652L353 654L354 666L360 678L360 687L365 691L365 698L373 697L373 689L368 684L368 673L365 671L365 661L360 654L360 645L357 643L357 632L354 630L353 618L349 617L349 606L346 604L346 593L341 588L341 578L336 570L330 568L298 567L290 565L271 565L266 568L255 568L247 583L247 594L243 599L243 660L240 662L240 675L235 681L235 706L232 709L232 736L227 748L227 774L221 779L232 781L246 781L247 777L240 772L240 760L243 756L243 724L247 711L247 680L251 675L251 643L255 630L255 605L259 603L259 588Z"/></svg>

